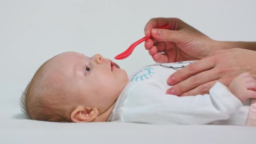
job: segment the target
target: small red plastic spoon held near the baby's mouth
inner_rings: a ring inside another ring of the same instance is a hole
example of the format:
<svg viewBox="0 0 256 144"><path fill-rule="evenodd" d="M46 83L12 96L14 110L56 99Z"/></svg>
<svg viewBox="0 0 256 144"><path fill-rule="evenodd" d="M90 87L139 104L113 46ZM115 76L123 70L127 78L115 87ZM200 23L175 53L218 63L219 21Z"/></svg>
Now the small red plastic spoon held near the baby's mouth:
<svg viewBox="0 0 256 144"><path fill-rule="evenodd" d="M161 27L160 29L168 29L168 27L170 27L169 25L166 25L164 27ZM115 59L125 59L128 56L131 55L131 53L133 52L134 48L139 45L140 43L144 42L145 40L148 40L149 38L151 38L152 36L147 36L147 37L143 37L140 40L136 41L135 43L131 44L129 46L129 48L124 51L123 53L120 53L119 55L115 56Z"/></svg>

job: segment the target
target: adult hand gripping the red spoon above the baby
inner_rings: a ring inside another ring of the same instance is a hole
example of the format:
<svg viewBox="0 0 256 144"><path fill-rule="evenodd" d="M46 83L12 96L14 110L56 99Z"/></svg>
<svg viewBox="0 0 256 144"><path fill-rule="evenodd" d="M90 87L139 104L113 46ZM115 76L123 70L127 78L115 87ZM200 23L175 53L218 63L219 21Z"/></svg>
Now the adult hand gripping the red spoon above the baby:
<svg viewBox="0 0 256 144"><path fill-rule="evenodd" d="M167 24L169 29L157 29ZM158 63L202 59L217 48L215 40L176 18L150 19L144 30L152 35L145 48Z"/></svg>

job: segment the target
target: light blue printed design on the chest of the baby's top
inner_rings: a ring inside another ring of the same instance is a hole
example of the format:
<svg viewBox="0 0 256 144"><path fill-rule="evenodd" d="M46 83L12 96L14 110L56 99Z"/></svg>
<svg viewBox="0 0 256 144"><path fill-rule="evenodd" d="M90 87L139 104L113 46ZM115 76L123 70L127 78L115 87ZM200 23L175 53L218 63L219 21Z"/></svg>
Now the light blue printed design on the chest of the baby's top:
<svg viewBox="0 0 256 144"><path fill-rule="evenodd" d="M149 68L145 68L143 70L140 70L139 72L137 72L133 78L131 79L131 82L133 80L138 81L141 80L143 81L145 78L149 79L150 77L152 77L151 74L155 74L154 72L152 72L153 68L149 67ZM150 76L150 77L149 77Z"/></svg>

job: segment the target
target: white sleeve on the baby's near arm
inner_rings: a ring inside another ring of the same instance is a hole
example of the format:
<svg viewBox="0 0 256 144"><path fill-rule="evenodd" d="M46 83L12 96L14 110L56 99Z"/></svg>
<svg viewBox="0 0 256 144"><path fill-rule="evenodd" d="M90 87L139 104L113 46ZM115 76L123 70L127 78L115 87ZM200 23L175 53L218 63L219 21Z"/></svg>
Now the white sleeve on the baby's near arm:
<svg viewBox="0 0 256 144"><path fill-rule="evenodd" d="M219 82L210 94L183 97L165 94L155 85L143 85L131 91L123 118L132 123L202 125L227 120L241 106L242 102Z"/></svg>

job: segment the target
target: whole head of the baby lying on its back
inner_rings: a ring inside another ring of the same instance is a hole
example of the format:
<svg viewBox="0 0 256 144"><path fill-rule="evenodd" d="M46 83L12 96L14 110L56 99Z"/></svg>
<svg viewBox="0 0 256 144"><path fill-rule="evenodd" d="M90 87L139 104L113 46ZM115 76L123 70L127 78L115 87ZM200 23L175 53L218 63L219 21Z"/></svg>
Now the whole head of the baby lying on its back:
<svg viewBox="0 0 256 144"><path fill-rule="evenodd" d="M97 121L114 106L127 82L127 73L99 54L61 53L46 61L27 85L23 111L33 120Z"/></svg>

